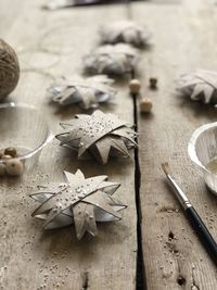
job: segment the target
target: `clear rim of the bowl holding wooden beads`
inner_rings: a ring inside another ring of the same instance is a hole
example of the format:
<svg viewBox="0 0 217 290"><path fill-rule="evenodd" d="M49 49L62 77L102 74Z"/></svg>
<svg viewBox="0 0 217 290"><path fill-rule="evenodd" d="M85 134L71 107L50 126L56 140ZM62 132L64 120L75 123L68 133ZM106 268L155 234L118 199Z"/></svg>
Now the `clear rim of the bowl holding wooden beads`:
<svg viewBox="0 0 217 290"><path fill-rule="evenodd" d="M54 135L51 131L50 126L49 126L47 119L43 117L43 115L39 112L39 110L35 105L28 104L28 103L23 103L23 102L17 102L17 103L15 103L15 102L0 103L0 110L2 110L2 109L4 110L4 109L9 109L9 108L24 108L24 109L27 109L27 110L33 110L33 111L37 112L37 114L46 123L48 134L47 134L47 137L44 138L44 140L37 148L33 149L28 153L22 154L22 155L16 156L16 157L12 157L10 160L16 159L16 160L21 160L22 161L22 160L30 159L36 153L38 153L39 151L41 151L49 142L51 142L52 139L54 138ZM0 163L3 163L3 162L5 162L5 161L0 160Z"/></svg>

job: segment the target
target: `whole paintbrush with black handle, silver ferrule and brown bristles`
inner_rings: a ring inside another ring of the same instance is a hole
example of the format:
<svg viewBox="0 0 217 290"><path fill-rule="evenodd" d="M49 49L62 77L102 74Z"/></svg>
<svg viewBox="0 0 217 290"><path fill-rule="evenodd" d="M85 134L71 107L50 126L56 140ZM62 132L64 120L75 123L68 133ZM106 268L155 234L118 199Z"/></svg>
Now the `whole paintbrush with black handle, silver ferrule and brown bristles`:
<svg viewBox="0 0 217 290"><path fill-rule="evenodd" d="M214 263L217 265L217 243L215 242L210 232L208 231L203 220L192 206L191 202L188 200L184 192L171 177L168 163L167 162L163 163L162 168L165 172L166 177L169 180L169 185L171 186L174 192L176 193L177 199L181 203L186 212L186 215L192 225L192 228L196 232L197 237L200 238L201 242L203 243L204 248L206 249L207 253L209 254Z"/></svg>

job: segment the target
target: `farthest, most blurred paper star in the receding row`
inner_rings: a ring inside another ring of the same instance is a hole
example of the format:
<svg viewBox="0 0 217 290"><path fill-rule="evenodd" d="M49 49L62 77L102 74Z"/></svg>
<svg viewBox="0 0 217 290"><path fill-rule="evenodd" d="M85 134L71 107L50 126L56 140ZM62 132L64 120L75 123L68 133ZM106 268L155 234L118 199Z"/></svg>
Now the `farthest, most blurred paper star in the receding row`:
<svg viewBox="0 0 217 290"><path fill-rule="evenodd" d="M150 34L131 21L105 24L100 29L100 36L104 43L125 42L136 47L144 47L150 39Z"/></svg>

